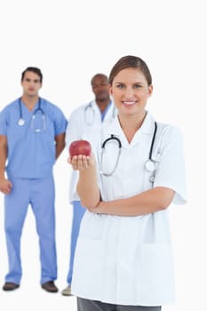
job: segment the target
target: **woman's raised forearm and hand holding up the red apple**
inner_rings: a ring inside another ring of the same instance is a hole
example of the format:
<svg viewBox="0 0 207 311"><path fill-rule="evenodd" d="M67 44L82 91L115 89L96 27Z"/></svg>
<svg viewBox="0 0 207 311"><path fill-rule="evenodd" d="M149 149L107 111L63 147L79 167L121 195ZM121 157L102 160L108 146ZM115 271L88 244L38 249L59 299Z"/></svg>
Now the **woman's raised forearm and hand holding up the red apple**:
<svg viewBox="0 0 207 311"><path fill-rule="evenodd" d="M71 163L74 170L79 171L76 190L82 205L88 209L94 208L100 202L100 188L94 156L69 157L68 163Z"/></svg>

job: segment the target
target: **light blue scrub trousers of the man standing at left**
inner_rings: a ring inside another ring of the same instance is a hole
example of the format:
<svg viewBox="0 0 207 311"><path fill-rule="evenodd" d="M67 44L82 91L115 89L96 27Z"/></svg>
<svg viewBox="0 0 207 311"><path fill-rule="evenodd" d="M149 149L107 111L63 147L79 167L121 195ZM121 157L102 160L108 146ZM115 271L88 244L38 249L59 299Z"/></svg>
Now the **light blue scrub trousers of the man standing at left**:
<svg viewBox="0 0 207 311"><path fill-rule="evenodd" d="M53 178L10 180L12 181L12 192L4 196L4 229L9 260L9 272L5 276L5 282L20 284L22 276L20 237L29 204L36 218L36 232L39 236L40 283L56 280L57 255Z"/></svg>

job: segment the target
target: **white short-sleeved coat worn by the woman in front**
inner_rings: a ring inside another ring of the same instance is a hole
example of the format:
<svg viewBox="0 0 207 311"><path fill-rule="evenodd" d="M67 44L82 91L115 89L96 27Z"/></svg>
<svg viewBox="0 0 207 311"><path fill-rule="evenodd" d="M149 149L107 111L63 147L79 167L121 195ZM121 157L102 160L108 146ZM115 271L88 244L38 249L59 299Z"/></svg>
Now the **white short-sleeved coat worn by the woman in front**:
<svg viewBox="0 0 207 311"><path fill-rule="evenodd" d="M104 129L102 142L115 134L122 142L122 152L113 176L100 177L103 201L126 198L151 187L170 187L175 191L173 203L186 202L181 134L171 125L157 125L154 186L149 181L151 172L145 169L155 128L153 117L147 113L130 144L117 118ZM100 148L96 155L100 171ZM103 171L112 157L111 151L106 152ZM72 292L84 299L120 305L161 306L173 302L168 210L136 217L86 211L76 245Z"/></svg>

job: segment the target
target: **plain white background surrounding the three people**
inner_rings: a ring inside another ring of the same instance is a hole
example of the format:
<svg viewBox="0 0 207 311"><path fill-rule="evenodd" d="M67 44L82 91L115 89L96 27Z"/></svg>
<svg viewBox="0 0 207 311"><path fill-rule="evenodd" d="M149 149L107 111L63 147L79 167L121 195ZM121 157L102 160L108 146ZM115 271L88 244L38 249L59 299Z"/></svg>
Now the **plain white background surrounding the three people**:
<svg viewBox="0 0 207 311"><path fill-rule="evenodd" d="M1 109L20 96L20 75L28 66L42 69L41 96L68 117L92 100L94 74L108 75L127 54L147 61L155 90L148 109L157 121L179 126L187 166L188 202L171 207L177 302L164 311L206 309L206 28L204 0L0 1ZM67 156L64 150L54 169L60 290L68 273L72 216ZM3 198L1 194L0 285L7 272ZM39 249L30 210L21 248L20 290L0 291L1 310L76 310L74 297L49 294L39 286Z"/></svg>

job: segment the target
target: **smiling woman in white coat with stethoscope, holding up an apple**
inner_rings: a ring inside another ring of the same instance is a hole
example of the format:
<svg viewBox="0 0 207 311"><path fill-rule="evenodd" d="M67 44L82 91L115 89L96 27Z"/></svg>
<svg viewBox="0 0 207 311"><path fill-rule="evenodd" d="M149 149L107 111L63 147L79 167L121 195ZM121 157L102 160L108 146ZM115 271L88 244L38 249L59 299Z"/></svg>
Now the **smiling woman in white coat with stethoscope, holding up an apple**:
<svg viewBox="0 0 207 311"><path fill-rule="evenodd" d="M147 112L152 78L139 57L118 60L109 83L118 116L91 156L68 159L87 207L72 292L78 311L158 311L174 300L168 207L186 202L182 136Z"/></svg>

